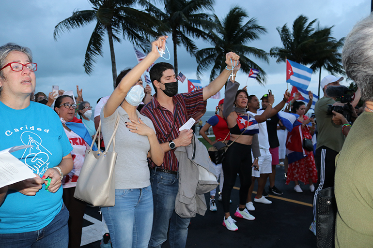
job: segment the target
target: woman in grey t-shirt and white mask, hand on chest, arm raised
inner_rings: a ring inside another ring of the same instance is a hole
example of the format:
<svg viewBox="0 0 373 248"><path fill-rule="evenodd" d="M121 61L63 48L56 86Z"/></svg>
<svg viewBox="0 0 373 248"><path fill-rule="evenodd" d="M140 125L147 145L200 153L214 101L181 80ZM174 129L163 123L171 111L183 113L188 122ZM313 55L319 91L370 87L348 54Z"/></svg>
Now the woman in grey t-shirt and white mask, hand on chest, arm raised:
<svg viewBox="0 0 373 248"><path fill-rule="evenodd" d="M102 207L113 248L147 248L153 224L153 193L147 158L158 166L164 151L152 121L136 110L144 98L141 75L165 49L166 37L152 43L152 51L124 75L101 110L102 135L109 143L116 119L115 206Z"/></svg>

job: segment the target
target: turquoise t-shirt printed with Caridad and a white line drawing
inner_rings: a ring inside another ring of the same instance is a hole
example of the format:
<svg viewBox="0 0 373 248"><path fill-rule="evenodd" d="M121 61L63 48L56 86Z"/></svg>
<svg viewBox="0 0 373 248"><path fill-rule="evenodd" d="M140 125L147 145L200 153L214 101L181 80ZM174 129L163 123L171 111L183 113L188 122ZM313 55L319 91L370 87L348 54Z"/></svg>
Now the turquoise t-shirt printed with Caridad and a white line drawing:
<svg viewBox="0 0 373 248"><path fill-rule="evenodd" d="M12 109L0 102L0 150L12 146L33 147L13 152L40 177L60 164L72 151L60 118L50 107L30 102L25 109ZM51 193L45 184L35 196L8 190L0 207L0 233L25 233L46 227L60 212L62 187Z"/></svg>

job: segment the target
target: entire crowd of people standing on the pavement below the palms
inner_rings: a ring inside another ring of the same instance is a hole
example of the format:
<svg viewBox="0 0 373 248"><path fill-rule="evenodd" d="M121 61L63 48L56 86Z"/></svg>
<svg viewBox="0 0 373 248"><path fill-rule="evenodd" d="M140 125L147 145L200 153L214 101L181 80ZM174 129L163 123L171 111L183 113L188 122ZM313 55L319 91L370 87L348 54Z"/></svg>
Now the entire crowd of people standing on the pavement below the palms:
<svg viewBox="0 0 373 248"><path fill-rule="evenodd" d="M296 121L291 131L281 134L286 136L285 140L278 133L285 130L281 122L285 114L280 112L289 102L289 92L286 90L281 102L273 106L275 98L270 90L260 102L257 96L249 95L246 87L239 89L234 74L241 64L233 52L226 54L226 70L207 87L189 93L178 93L171 64L154 64L150 70L155 90L152 96L151 88L143 87L141 75L161 57L160 49L164 50L168 38L161 36L151 44L151 52L139 64L118 75L116 88L111 95L99 99L91 120L92 107L90 102L83 101L82 89L77 86L76 98L63 91L50 92L48 96L43 92L34 94L37 64L32 62L30 49L12 43L1 46L0 113L7 118L3 118L0 127L0 150L30 145L13 155L35 174L34 178L0 188L1 246L80 246L87 204L74 198L74 192L85 152L94 142L92 138L99 126L102 139L98 138L97 149L109 142L118 122L115 205L101 207L110 246L160 248L169 239L171 248L185 248L190 218L175 211L180 207L177 203L185 204L188 212L192 211L190 205L201 202L196 200L195 188L180 177L184 160L178 160L181 147L198 146L196 138L192 130L179 129L190 117L199 119L205 112L207 99L227 81L225 97L218 103L216 115L200 128L200 134L209 144L221 142L226 146L224 157L216 161L213 170L220 179L218 199L225 213L222 225L230 231L238 230L230 207L237 175L240 190L234 217L254 220L249 213L255 210L254 203L272 204L264 189L268 178L268 191L283 194L275 186L275 175L279 159L284 159L285 183L294 181L294 190L300 193L299 182L303 182L314 192L310 230L317 235L317 193L335 187L336 246L371 246L372 153L367 146L372 143L369 125L373 117L370 73L373 56L368 52L373 46L372 27L373 16L362 20L343 47L343 66L359 87L351 102L351 118L337 111L330 114L330 105L344 105L331 93L344 78L328 75L321 81L324 97L316 102L314 116L306 115L312 92L307 106L296 101L299 95L286 106L283 112L296 116ZM365 108L358 117L355 107L360 100L360 89ZM202 121L198 125L202 126ZM211 126L215 141L205 133ZM317 146L313 149L312 143L309 145L316 133ZM284 147L289 155L286 158L282 155ZM298 155L290 156L296 150L300 151ZM258 191L252 198L255 180ZM191 200L185 196L186 192L192 195ZM211 211L217 211L216 196L216 190L211 190ZM202 208L203 204L206 203L202 203ZM199 211L205 210L199 208Z"/></svg>

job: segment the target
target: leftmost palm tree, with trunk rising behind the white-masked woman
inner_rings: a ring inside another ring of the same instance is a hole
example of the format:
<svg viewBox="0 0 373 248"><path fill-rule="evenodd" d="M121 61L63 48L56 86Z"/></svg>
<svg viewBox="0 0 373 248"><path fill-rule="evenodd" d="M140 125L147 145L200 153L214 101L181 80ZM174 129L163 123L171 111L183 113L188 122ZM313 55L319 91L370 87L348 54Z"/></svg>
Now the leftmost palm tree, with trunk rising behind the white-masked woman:
<svg viewBox="0 0 373 248"><path fill-rule="evenodd" d="M144 44L148 42L149 34L156 35L152 30L158 21L148 13L132 8L137 0L89 0L92 10L74 11L73 15L58 23L54 29L53 37L57 37L62 32L70 29L83 27L91 22L96 22L96 26L89 40L84 58L85 73L93 72L93 64L97 62L97 57L102 54L102 45L106 33L109 38L111 68L113 75L113 86L117 78L113 41L121 42L119 36L123 34L123 39L128 39L131 43Z"/></svg>

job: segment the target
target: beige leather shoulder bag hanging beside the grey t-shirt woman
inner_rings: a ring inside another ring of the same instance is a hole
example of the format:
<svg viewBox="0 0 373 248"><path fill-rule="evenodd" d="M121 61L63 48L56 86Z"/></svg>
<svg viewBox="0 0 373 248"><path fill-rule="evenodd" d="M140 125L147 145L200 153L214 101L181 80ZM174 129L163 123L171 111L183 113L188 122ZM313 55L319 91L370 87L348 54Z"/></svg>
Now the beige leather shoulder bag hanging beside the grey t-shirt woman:
<svg viewBox="0 0 373 248"><path fill-rule="evenodd" d="M77 181L74 197L89 203L93 206L114 206L115 205L115 173L114 167L117 160L115 152L115 133L119 126L119 113L115 121L113 134L106 146L105 151L100 149L93 151L93 142L85 153L83 167ZM100 137L101 120L94 135ZM113 151L109 152L109 147L113 143Z"/></svg>

